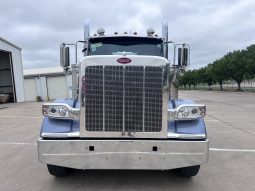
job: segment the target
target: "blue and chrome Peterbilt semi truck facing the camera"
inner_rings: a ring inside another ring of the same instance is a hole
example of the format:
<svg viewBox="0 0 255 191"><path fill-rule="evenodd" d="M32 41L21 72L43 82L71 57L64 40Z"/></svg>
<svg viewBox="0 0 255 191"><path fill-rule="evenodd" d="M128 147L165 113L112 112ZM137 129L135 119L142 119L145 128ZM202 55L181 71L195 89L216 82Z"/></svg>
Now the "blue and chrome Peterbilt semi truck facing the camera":
<svg viewBox="0 0 255 191"><path fill-rule="evenodd" d="M90 35L86 22L84 40L60 46L72 98L42 105L39 161L57 177L71 169L174 169L195 176L208 161L209 140L206 106L178 98L189 60L189 45L168 41L166 21L160 37L153 28L143 36L107 35L103 28Z"/></svg>

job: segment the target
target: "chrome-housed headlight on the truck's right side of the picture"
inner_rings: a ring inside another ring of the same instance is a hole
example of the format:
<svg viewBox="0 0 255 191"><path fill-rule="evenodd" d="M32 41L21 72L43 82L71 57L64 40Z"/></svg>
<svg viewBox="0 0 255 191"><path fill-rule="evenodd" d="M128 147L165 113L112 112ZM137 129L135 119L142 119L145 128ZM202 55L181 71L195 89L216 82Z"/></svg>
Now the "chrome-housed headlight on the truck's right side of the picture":
<svg viewBox="0 0 255 191"><path fill-rule="evenodd" d="M175 109L168 110L168 119L172 120L194 120L204 117L206 106L201 104L184 104Z"/></svg>

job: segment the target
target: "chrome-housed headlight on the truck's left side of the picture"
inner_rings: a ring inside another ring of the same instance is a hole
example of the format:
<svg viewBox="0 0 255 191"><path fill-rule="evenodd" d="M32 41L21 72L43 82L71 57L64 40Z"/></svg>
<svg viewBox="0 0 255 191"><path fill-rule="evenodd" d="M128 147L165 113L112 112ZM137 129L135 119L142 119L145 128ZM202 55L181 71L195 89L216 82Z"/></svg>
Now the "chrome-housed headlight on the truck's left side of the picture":
<svg viewBox="0 0 255 191"><path fill-rule="evenodd" d="M44 103L42 113L50 118L78 120L80 110L65 103Z"/></svg>

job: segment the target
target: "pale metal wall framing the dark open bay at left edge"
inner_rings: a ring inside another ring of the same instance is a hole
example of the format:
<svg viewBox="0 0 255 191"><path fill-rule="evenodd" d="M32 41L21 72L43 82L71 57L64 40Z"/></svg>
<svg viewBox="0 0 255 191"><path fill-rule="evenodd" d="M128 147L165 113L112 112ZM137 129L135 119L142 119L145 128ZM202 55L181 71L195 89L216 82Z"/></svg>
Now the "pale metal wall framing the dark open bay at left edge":
<svg viewBox="0 0 255 191"><path fill-rule="evenodd" d="M0 39L0 50L11 52L16 100L17 102L23 102L25 100L25 96L21 49L18 49Z"/></svg>

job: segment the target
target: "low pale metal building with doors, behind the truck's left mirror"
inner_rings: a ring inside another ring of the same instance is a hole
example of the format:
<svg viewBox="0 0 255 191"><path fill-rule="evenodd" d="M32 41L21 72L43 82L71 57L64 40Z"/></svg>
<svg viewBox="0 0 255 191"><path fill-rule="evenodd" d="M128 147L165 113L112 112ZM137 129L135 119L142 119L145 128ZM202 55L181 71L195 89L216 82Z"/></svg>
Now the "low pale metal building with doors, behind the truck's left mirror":
<svg viewBox="0 0 255 191"><path fill-rule="evenodd" d="M24 70L25 101L70 97L71 80L61 67Z"/></svg>

